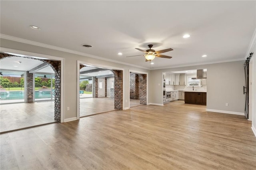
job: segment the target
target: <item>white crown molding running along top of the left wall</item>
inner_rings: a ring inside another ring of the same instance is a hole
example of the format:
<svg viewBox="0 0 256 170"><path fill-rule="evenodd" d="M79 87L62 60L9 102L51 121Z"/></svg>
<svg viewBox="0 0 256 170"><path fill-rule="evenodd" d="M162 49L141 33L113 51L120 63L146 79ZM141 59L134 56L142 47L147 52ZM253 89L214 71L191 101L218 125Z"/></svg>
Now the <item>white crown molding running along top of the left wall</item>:
<svg viewBox="0 0 256 170"><path fill-rule="evenodd" d="M57 47L57 46L54 46L54 45L48 45L48 44L45 44L45 43L34 42L34 41L30 41L30 40L26 40L26 39L22 39L22 38L18 38L18 37L8 36L8 35L5 35L5 34L0 34L0 38L15 41L15 42L20 42L20 43L26 43L26 44L30 44L30 45L36 45L36 46L39 46L39 47L54 49L54 50L58 50L58 51L63 51L63 52L67 52L67 53L82 55L82 56L90 57L90 58L94 58L94 59L100 59L100 60L104 60L104 61L110 61L110 62L113 62L113 63L129 65L129 66L132 66L132 67L138 67L138 68L150 70L149 68L142 67L140 65L134 65L134 64L125 63L125 62L122 62L122 61L116 61L116 60L113 60L113 59L106 59L104 57L99 57L99 56L91 55L91 54L88 54L88 53L82 53L82 52L74 51L74 50L71 50L71 49Z"/></svg>

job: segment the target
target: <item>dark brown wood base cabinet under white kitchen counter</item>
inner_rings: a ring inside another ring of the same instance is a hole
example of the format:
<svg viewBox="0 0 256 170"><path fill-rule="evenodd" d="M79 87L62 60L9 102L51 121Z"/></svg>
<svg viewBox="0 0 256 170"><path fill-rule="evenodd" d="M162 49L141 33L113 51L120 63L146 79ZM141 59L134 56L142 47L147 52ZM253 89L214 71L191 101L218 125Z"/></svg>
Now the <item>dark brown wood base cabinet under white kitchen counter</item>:
<svg viewBox="0 0 256 170"><path fill-rule="evenodd" d="M206 92L187 92L185 91L185 103L206 105Z"/></svg>

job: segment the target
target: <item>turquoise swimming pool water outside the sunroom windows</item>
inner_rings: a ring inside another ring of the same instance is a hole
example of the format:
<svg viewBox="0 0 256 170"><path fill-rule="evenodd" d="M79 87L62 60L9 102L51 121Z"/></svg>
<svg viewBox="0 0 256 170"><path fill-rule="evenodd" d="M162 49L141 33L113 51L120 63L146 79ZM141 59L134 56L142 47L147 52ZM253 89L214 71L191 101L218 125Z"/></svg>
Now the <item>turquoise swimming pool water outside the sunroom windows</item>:
<svg viewBox="0 0 256 170"><path fill-rule="evenodd" d="M24 91L0 92L0 97L1 97L1 100L24 99ZM51 99L51 93L50 91L35 91L35 99Z"/></svg>

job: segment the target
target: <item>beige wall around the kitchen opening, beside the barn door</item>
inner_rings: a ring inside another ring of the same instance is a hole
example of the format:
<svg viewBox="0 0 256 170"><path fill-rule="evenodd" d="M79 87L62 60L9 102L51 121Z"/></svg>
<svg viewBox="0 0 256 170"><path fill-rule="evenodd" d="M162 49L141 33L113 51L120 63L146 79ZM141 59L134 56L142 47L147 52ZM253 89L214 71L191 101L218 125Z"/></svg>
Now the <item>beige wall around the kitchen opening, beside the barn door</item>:
<svg viewBox="0 0 256 170"><path fill-rule="evenodd" d="M207 69L207 109L222 113L244 114L244 61L215 63L150 71L149 103L162 104L162 72ZM229 104L226 107L226 103Z"/></svg>

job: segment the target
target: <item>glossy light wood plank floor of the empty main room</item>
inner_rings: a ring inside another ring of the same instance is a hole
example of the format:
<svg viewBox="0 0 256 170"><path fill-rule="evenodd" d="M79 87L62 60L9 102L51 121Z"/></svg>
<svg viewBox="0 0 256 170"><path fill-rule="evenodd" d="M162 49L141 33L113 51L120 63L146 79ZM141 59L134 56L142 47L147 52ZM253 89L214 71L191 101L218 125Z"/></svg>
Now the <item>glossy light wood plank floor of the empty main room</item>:
<svg viewBox="0 0 256 170"><path fill-rule="evenodd" d="M1 169L256 169L243 116L176 101L0 135Z"/></svg>

